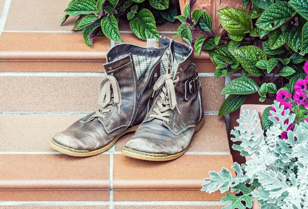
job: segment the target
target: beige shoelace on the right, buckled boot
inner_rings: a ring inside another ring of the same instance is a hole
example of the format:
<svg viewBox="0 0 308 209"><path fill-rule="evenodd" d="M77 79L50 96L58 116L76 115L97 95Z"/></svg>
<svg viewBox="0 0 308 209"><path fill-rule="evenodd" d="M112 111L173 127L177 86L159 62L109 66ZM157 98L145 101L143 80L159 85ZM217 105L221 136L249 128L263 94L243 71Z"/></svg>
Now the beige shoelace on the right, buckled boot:
<svg viewBox="0 0 308 209"><path fill-rule="evenodd" d="M156 81L154 85L154 92L153 94L162 87L162 91L159 95L157 100L158 108L153 108L153 111L156 114L150 114L149 117L158 118L161 120L166 121L168 124L171 123L167 117L172 117L172 114L166 113L167 110L171 109L174 110L177 108L177 96L175 91L175 83L179 81L179 77L177 79L172 80L174 74L166 74L160 76L159 79ZM179 109L177 108L178 112L180 113ZM180 113L181 114L181 113Z"/></svg>

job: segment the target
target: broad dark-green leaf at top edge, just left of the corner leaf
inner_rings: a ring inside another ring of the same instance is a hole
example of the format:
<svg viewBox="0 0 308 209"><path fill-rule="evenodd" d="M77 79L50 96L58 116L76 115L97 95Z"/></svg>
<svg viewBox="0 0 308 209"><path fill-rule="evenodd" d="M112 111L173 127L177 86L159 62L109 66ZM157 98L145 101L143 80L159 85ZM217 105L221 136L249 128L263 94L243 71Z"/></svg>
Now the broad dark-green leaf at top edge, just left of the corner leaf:
<svg viewBox="0 0 308 209"><path fill-rule="evenodd" d="M256 25L263 30L273 30L292 17L294 12L295 10L287 2L277 2L266 8Z"/></svg>

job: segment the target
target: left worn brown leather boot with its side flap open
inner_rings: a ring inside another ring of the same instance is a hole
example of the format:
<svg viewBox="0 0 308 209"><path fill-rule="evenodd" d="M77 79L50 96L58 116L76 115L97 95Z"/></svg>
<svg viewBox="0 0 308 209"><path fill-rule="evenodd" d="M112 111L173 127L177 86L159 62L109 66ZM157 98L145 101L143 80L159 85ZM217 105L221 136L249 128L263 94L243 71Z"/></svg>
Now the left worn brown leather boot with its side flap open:
<svg viewBox="0 0 308 209"><path fill-rule="evenodd" d="M151 106L156 66L167 48L119 44L107 53L106 76L100 85L100 109L56 134L53 149L85 157L108 150L128 132L136 131Z"/></svg>

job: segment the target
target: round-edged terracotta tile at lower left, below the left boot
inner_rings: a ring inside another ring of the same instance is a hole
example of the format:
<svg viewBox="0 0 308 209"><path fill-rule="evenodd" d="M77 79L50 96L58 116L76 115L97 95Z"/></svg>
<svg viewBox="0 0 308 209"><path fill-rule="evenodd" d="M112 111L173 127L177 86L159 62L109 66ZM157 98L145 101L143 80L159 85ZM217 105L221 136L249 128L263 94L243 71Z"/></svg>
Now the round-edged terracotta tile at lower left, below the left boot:
<svg viewBox="0 0 308 209"><path fill-rule="evenodd" d="M90 201L102 201L109 194L108 155L76 158L66 155L11 154L1 155L0 162L1 200L50 201L52 198L54 201L86 201L86 198L90 198ZM72 190L72 193L66 191L64 195L59 190ZM93 196L94 192L100 195Z"/></svg>

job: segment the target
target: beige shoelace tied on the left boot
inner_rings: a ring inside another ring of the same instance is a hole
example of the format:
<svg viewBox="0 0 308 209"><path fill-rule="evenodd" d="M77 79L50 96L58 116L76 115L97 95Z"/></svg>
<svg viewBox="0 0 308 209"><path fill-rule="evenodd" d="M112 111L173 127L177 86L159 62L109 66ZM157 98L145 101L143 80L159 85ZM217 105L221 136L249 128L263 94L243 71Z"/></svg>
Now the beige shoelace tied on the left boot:
<svg viewBox="0 0 308 209"><path fill-rule="evenodd" d="M111 93L112 88L112 93ZM122 105L121 91L117 79L113 74L106 75L106 77L101 81L100 84L100 97L99 105L101 109L96 110L93 117L102 117L107 119L107 116L104 113L111 113L111 109L105 109L108 105L118 105L118 114L120 114L120 106Z"/></svg>

